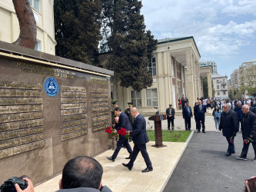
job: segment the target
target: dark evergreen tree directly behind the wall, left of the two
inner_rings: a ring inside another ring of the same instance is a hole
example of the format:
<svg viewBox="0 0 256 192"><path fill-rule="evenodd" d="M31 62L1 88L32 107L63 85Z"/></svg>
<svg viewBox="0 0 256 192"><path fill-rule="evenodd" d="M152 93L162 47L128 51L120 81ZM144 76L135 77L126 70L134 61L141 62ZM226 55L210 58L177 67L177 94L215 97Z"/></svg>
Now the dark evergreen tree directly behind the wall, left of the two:
<svg viewBox="0 0 256 192"><path fill-rule="evenodd" d="M56 55L98 65L100 0L55 0Z"/></svg>

